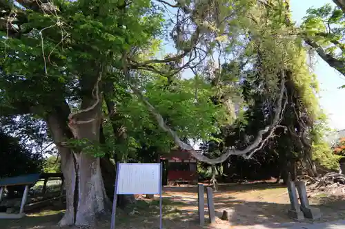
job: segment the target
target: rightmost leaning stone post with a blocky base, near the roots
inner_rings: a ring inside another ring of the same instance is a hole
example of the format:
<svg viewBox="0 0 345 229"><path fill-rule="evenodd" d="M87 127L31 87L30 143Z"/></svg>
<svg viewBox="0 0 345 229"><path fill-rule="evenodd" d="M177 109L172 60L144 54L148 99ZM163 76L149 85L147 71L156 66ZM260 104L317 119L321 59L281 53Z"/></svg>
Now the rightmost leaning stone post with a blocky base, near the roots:
<svg viewBox="0 0 345 229"><path fill-rule="evenodd" d="M298 190L299 199L301 200L301 210L304 217L308 219L319 219L321 218L321 210L319 208L312 208L309 206L308 195L306 193L306 184L299 181L295 182Z"/></svg>

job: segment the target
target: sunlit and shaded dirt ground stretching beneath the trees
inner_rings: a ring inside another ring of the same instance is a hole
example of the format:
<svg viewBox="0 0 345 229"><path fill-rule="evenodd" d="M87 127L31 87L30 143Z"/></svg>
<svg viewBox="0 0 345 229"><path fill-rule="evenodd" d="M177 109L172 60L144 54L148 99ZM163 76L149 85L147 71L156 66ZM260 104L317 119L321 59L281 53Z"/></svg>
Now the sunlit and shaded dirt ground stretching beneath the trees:
<svg viewBox="0 0 345 229"><path fill-rule="evenodd" d="M206 190L205 190L206 193ZM313 193L309 197L311 205L322 210L322 219L335 221L345 219L344 193ZM277 223L294 222L287 217L289 200L287 189L277 184L219 184L214 194L216 216L221 217L223 210L231 212L230 222L217 218L209 225L205 194L206 226L208 229L229 228L274 228ZM50 206L41 212L31 212L19 220L0 220L1 229L56 229L63 210ZM135 206L119 210L117 228L159 228L159 196L153 200L139 200ZM163 195L164 229L190 228L197 226L197 186L164 187ZM103 219L95 229L109 229L109 219Z"/></svg>

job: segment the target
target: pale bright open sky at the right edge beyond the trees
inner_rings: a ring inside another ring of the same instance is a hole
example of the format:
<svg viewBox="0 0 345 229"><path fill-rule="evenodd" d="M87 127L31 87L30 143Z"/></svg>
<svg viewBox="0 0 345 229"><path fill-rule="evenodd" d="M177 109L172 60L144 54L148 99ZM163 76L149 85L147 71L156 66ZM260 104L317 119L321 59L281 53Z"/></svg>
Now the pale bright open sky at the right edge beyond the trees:
<svg viewBox="0 0 345 229"><path fill-rule="evenodd" d="M326 3L331 3L335 6L332 0L290 0L293 20L301 23L308 8L319 8ZM345 98L345 89L337 89L337 87L345 85L345 77L332 67L329 67L318 56L317 63L313 65L313 71L319 81L320 105L328 115L330 127L345 129L345 103L342 100Z"/></svg>

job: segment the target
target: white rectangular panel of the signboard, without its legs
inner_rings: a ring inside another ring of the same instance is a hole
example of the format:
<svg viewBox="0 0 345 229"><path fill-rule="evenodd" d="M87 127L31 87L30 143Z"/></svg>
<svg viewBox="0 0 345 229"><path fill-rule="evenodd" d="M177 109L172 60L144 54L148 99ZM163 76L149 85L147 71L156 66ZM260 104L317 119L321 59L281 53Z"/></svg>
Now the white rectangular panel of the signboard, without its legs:
<svg viewBox="0 0 345 229"><path fill-rule="evenodd" d="M161 164L119 163L117 194L160 194Z"/></svg>

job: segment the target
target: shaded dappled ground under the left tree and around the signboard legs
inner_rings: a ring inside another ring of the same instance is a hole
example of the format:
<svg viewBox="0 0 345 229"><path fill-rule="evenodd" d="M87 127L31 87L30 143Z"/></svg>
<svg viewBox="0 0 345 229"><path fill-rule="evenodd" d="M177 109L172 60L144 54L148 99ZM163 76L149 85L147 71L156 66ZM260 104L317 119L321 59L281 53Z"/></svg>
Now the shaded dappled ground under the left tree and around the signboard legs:
<svg viewBox="0 0 345 229"><path fill-rule="evenodd" d="M164 198L162 201L164 229L190 228L199 229L194 211L186 212L179 210L186 206L193 205L193 201L182 202L172 201ZM49 207L48 207L49 208ZM31 212L22 219L0 219L1 229L58 229L57 223L63 216L63 210L57 208L45 208L40 212ZM66 229L69 227L66 227ZM109 229L110 214L103 217L99 224L92 229ZM132 228L159 228L159 199L153 201L137 201L137 204L128 206L125 209L117 209L117 229ZM65 229L65 228L63 228Z"/></svg>

